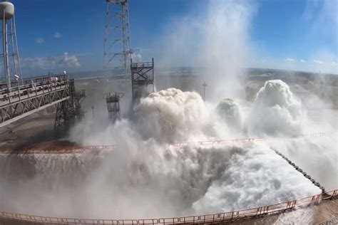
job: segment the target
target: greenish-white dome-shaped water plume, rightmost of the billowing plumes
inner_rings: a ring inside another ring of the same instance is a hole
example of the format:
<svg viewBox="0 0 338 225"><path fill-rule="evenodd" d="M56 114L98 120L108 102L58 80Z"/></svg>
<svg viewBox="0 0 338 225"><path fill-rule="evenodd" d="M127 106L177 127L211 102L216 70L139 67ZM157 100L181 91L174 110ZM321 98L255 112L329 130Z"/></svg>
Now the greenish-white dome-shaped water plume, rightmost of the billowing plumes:
<svg viewBox="0 0 338 225"><path fill-rule="evenodd" d="M289 86L282 80L268 80L257 93L247 125L250 135L296 136L302 133L305 118Z"/></svg>

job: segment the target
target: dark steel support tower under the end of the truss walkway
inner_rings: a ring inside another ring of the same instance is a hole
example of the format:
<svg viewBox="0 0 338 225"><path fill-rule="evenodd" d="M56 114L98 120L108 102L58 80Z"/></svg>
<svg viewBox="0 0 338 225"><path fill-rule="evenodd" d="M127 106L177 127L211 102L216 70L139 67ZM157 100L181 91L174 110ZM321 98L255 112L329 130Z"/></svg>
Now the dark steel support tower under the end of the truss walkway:
<svg viewBox="0 0 338 225"><path fill-rule="evenodd" d="M85 90L76 93L74 80L69 80L70 98L59 102L56 106L56 116L54 129L64 129L74 125L76 121L84 118L85 112L81 108L81 103L86 98Z"/></svg>

